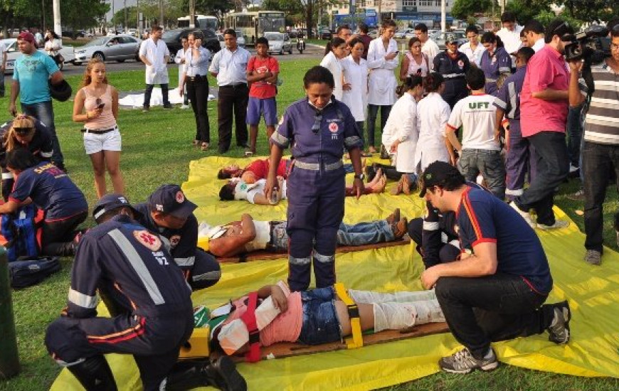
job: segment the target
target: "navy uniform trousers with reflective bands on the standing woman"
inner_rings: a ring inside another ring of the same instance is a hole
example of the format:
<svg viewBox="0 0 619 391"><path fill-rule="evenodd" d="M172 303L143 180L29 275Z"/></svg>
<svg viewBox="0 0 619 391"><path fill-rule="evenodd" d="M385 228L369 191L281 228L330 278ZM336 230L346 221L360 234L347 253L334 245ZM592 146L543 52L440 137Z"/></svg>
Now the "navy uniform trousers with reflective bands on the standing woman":
<svg viewBox="0 0 619 391"><path fill-rule="evenodd" d="M292 166L288 176L288 225L290 237L288 286L292 291L309 287L314 264L316 287L335 283L337 230L344 218L346 175L343 166L318 171Z"/></svg>

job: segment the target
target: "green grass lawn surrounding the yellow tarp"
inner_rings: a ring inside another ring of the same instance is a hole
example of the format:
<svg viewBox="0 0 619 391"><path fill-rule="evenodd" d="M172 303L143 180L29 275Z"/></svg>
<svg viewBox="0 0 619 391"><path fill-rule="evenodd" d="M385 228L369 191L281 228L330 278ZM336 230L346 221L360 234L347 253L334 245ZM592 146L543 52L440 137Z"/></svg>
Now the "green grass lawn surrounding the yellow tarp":
<svg viewBox="0 0 619 391"><path fill-rule="evenodd" d="M277 97L278 111L303 95L302 76L305 70L318 63L314 60L285 61L281 65L281 78ZM70 83L77 91L81 77L71 77ZM110 83L120 91L144 88L142 71L113 73ZM170 80L177 80L176 67L170 68ZM211 86L216 85L210 78ZM9 86L7 86L9 87ZM8 93L8 91L7 91ZM8 119L8 99L0 100L0 113ZM55 120L58 136L65 155L65 164L73 181L84 191L90 205L94 205L90 160L83 149L80 124L71 121L73 102L55 102ZM191 110L164 111L153 108L148 113L139 110L122 110L118 121L122 132L122 171L125 176L127 196L132 202L142 202L162 183L182 183L189 173L189 161L216 154L217 125L216 102L210 102L211 149L203 152L191 146L195 134ZM228 156L241 156L243 149L236 147ZM260 127L258 154L267 154L265 129ZM556 203L583 229L583 219L576 213L582 210L582 201L573 201L567 195L578 190L578 183L571 181L561 186ZM618 209L618 195L610 190L605 204L605 241L617 250L612 229L612 215ZM92 220L87 221L92 225ZM63 270L43 284L22 291L13 291L15 323L17 329L21 374L0 382L0 390L45 390L51 386L60 369L48 357L43 337L48 323L58 316L65 306L70 282L70 259L63 259ZM4 338L1 336L0 338ZM595 352L591 352L595 354ZM502 365L493 373L475 373L468 376L437 374L409 382L389 390L618 390L619 380L610 378L590 379L542 373Z"/></svg>

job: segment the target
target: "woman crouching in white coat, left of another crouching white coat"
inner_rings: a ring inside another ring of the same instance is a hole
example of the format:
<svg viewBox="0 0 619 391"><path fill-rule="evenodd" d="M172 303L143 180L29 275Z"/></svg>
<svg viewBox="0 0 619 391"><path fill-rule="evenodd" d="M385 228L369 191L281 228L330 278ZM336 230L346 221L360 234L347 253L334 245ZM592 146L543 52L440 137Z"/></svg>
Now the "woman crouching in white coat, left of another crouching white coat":
<svg viewBox="0 0 619 391"><path fill-rule="evenodd" d="M419 75L406 77L404 94L391 108L389 119L383 129L382 143L393 154L396 171L402 173L398 186L392 194L410 194L417 183L415 151L418 146L418 112L416 96L423 94L423 79Z"/></svg>

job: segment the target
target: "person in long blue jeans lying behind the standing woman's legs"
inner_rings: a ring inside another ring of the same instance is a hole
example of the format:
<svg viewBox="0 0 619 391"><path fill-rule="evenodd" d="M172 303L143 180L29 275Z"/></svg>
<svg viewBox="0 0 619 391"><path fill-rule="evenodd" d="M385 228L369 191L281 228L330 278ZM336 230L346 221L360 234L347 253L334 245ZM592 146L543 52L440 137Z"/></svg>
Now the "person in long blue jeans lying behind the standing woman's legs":
<svg viewBox="0 0 619 391"><path fill-rule="evenodd" d="M286 221L258 221L247 213L240 221L216 227L201 225L198 246L216 257L233 257L255 250L288 252ZM374 220L354 225L340 224L337 231L339 246L373 245L400 240L407 232L406 218L396 209L384 220Z"/></svg>

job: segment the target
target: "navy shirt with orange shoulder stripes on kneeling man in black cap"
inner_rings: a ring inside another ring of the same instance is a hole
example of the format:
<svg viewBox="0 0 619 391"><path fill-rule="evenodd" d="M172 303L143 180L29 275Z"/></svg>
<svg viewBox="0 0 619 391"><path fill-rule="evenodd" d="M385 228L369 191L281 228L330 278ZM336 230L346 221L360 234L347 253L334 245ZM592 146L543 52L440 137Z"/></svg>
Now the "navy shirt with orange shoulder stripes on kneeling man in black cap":
<svg viewBox="0 0 619 391"><path fill-rule="evenodd" d="M497 273L520 276L540 294L551 291L544 248L535 231L507 203L487 191L467 188L456 218L463 251L482 242L496 243Z"/></svg>

